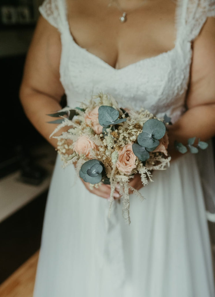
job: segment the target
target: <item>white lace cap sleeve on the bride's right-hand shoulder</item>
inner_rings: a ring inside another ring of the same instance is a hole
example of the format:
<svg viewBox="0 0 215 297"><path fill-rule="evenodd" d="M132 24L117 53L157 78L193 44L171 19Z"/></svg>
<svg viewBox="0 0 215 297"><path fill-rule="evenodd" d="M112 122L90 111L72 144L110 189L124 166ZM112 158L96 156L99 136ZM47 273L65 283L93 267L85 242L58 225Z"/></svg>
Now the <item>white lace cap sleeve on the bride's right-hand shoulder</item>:
<svg viewBox="0 0 215 297"><path fill-rule="evenodd" d="M215 17L215 0L188 0L186 14L186 34L190 41L194 40L207 17Z"/></svg>

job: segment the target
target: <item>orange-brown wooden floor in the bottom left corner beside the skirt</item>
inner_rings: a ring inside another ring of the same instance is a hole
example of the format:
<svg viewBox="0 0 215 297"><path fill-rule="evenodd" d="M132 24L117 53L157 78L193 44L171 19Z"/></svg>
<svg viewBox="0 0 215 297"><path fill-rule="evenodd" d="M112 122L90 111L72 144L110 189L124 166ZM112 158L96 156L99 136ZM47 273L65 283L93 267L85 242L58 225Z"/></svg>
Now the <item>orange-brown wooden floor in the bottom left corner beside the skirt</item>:
<svg viewBox="0 0 215 297"><path fill-rule="evenodd" d="M39 251L0 285L1 297L32 297Z"/></svg>

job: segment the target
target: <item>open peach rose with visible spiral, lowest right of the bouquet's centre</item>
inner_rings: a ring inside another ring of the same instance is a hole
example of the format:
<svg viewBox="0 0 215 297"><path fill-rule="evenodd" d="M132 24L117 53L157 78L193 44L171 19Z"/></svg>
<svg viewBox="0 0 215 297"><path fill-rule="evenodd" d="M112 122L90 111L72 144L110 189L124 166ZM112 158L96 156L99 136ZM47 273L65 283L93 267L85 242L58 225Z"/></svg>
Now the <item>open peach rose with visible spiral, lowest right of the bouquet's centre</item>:
<svg viewBox="0 0 215 297"><path fill-rule="evenodd" d="M119 152L119 159L117 161L117 168L122 171L122 173L130 174L135 165L136 156L133 153L132 145L127 144L123 147L122 151Z"/></svg>

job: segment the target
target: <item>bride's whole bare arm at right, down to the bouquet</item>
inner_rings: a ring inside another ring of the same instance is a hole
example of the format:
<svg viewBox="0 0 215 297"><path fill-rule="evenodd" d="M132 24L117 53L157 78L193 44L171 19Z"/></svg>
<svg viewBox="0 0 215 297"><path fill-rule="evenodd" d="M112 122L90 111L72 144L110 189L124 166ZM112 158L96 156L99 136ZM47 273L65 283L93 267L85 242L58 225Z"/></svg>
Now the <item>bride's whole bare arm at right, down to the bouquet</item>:
<svg viewBox="0 0 215 297"><path fill-rule="evenodd" d="M187 92L187 111L169 129L172 160L182 154L174 140L187 144L196 136L205 141L215 135L215 18L208 18L193 43L193 61Z"/></svg>

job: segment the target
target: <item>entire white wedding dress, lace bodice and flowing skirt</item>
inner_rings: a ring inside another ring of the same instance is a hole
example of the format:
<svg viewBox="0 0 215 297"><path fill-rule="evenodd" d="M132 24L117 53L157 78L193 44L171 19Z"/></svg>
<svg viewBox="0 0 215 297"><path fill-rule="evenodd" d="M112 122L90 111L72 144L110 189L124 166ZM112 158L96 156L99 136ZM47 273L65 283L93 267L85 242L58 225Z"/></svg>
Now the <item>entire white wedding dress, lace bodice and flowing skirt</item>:
<svg viewBox="0 0 215 297"><path fill-rule="evenodd" d="M144 107L176 121L184 111L191 41L206 18L215 16L215 3L179 1L175 47L122 69L75 43L65 0L46 0L40 12L61 33L60 75L69 106L103 91L123 108ZM205 198L214 207L211 146L154 172L154 182L140 190L145 200L130 195L130 225L122 217L122 204L114 202L108 219L109 201L89 193L72 165L61 165L58 157L34 297L215 296L204 203Z"/></svg>

